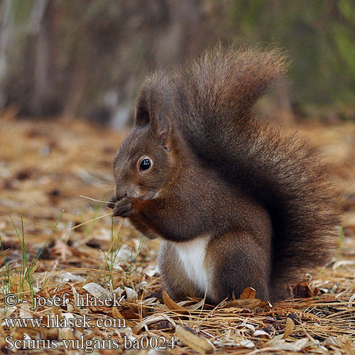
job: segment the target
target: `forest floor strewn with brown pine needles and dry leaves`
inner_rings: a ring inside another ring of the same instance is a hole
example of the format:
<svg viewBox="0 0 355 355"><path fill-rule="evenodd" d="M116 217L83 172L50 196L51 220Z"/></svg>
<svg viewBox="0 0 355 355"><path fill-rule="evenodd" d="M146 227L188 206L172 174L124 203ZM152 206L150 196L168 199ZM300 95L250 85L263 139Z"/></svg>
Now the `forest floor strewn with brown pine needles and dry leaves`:
<svg viewBox="0 0 355 355"><path fill-rule="evenodd" d="M209 307L164 294L159 241L141 238L111 219L103 202L84 198L111 196L111 161L123 136L82 120L2 114L0 351L355 354L355 124L297 129L322 148L337 175L339 255L305 275L295 300L271 306L246 290L233 307ZM100 303L113 293L118 303ZM142 349L148 345L160 349Z"/></svg>

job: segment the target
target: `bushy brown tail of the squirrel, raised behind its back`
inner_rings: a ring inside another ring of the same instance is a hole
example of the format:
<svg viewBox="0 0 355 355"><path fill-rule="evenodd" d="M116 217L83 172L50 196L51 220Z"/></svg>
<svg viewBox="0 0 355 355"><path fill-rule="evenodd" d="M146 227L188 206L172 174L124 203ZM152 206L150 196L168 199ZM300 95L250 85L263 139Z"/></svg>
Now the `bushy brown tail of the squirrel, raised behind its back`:
<svg viewBox="0 0 355 355"><path fill-rule="evenodd" d="M271 216L274 300L285 297L285 286L300 272L327 263L338 224L327 167L317 151L253 116L258 98L286 67L278 50L219 46L171 73L175 116L192 150Z"/></svg>

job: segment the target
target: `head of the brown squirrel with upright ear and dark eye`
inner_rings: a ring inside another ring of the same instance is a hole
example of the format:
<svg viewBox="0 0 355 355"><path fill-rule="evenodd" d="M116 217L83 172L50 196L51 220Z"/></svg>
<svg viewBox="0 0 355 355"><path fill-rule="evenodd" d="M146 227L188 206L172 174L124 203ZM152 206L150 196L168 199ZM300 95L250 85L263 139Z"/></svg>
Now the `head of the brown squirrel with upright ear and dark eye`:
<svg viewBox="0 0 355 355"><path fill-rule="evenodd" d="M114 158L115 195L151 200L158 197L165 182L180 169L178 138L165 104L156 92L143 90L138 96L131 133Z"/></svg>

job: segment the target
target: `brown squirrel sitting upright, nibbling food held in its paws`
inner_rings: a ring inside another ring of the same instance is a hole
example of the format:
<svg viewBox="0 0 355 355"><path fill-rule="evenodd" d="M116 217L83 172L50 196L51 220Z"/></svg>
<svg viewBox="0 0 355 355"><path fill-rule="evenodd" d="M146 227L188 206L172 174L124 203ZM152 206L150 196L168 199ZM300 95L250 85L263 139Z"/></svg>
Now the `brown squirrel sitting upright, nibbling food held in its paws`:
<svg viewBox="0 0 355 355"><path fill-rule="evenodd" d="M219 45L143 82L107 205L161 238L163 288L174 299L217 304L251 286L280 300L329 261L339 223L329 169L253 112L287 66L279 50Z"/></svg>

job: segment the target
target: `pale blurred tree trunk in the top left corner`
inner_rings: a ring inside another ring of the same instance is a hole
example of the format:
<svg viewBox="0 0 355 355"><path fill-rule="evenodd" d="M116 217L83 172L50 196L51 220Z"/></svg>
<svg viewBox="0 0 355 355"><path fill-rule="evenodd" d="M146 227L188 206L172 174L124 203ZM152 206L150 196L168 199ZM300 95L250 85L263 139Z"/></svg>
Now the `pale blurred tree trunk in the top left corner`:
<svg viewBox="0 0 355 355"><path fill-rule="evenodd" d="M43 114L40 107L50 94L47 75L50 41L45 40L50 31L43 28L43 23L48 22L47 6L48 0L4 0L1 3L1 107L14 104L24 114Z"/></svg>

